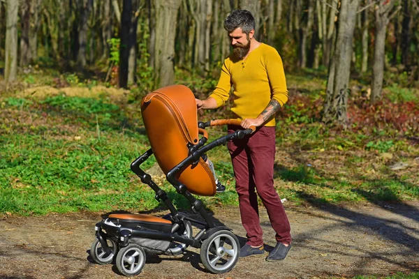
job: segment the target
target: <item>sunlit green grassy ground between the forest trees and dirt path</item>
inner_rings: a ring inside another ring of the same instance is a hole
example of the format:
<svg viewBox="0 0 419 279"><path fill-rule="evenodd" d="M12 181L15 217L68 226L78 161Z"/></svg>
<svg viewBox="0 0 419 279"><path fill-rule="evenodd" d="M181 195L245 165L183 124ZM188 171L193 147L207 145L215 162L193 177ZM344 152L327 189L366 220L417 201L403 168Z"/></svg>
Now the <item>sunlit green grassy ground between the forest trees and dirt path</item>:
<svg viewBox="0 0 419 279"><path fill-rule="evenodd" d="M319 85L304 84L314 92ZM311 91L310 91L311 90ZM0 213L20 215L68 211L149 210L160 204L154 192L129 168L149 149L138 108L113 103L108 96L0 98ZM277 192L289 202L376 202L418 199L415 169L392 172L381 154L413 164L419 153L397 133L372 130L368 135L330 130L311 116L307 104L294 103L278 121L279 153L274 169ZM214 112L211 112L214 113ZM216 119L204 114L202 119ZM226 133L208 128L210 141ZM415 155L416 154L416 155ZM226 146L208 152L226 192L201 197L207 206L237 204L233 167ZM396 160L396 159L395 159ZM155 163L154 157L142 165ZM189 207L165 181L176 206Z"/></svg>

